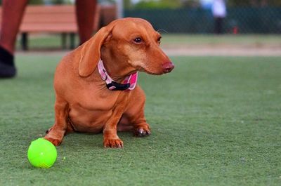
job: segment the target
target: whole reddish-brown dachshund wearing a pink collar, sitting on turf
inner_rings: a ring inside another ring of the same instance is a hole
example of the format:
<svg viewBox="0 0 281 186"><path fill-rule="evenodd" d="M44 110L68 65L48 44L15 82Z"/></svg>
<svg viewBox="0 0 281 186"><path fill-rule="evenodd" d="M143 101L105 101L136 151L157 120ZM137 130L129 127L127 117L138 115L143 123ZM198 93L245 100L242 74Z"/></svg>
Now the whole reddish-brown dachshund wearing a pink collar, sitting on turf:
<svg viewBox="0 0 281 186"><path fill-rule="evenodd" d="M150 135L137 72L164 74L174 64L161 35L141 18L115 20L60 61L55 71L55 124L45 136L60 145L71 132L101 133L104 147L123 147L117 131Z"/></svg>

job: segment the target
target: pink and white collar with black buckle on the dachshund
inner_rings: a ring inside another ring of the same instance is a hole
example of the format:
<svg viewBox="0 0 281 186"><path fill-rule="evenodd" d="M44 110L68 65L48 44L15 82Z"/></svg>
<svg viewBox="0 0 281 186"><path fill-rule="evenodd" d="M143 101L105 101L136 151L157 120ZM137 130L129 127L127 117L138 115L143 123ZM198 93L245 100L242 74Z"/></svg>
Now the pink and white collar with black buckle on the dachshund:
<svg viewBox="0 0 281 186"><path fill-rule="evenodd" d="M98 62L98 72L100 73L101 79L105 81L106 87L111 91L125 91L127 89L131 91L136 88L136 83L138 81L138 72L135 72L126 77L124 80L124 84L118 84L117 82L113 81L109 74L107 74L105 66L103 65L103 60L101 59Z"/></svg>

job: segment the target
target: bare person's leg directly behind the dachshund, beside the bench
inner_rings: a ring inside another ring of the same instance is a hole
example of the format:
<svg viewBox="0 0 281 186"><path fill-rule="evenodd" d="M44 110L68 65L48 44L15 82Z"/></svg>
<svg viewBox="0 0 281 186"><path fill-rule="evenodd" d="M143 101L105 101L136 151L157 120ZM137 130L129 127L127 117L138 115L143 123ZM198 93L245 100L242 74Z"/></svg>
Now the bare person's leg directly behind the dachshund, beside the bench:
<svg viewBox="0 0 281 186"><path fill-rule="evenodd" d="M91 38L97 0L76 0L76 16L80 44Z"/></svg>

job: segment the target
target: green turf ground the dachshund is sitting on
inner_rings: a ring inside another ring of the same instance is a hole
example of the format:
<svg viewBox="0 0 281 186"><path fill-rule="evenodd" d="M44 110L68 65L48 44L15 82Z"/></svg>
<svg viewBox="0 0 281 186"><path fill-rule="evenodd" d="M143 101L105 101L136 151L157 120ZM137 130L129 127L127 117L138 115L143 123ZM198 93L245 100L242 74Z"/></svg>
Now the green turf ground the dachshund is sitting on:
<svg viewBox="0 0 281 186"><path fill-rule="evenodd" d="M18 55L0 80L0 185L281 185L281 62L277 57L174 57L171 74L141 74L148 138L74 133L52 168L27 161L53 124L61 56ZM64 159L65 157L65 159Z"/></svg>

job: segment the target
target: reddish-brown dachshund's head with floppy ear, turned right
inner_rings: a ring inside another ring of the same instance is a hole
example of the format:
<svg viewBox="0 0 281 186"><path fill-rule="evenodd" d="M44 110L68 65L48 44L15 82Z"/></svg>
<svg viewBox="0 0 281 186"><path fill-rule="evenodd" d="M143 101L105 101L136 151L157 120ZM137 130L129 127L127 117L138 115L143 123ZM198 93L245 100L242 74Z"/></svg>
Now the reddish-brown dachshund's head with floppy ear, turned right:
<svg viewBox="0 0 281 186"><path fill-rule="evenodd" d="M174 64L159 48L161 35L141 18L124 18L101 28L81 47L79 75L88 77L100 58L113 58L119 67L129 72L140 70L148 74L164 74ZM103 53L105 53L103 55Z"/></svg>

